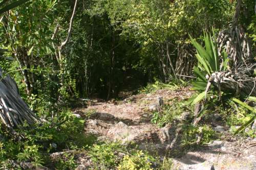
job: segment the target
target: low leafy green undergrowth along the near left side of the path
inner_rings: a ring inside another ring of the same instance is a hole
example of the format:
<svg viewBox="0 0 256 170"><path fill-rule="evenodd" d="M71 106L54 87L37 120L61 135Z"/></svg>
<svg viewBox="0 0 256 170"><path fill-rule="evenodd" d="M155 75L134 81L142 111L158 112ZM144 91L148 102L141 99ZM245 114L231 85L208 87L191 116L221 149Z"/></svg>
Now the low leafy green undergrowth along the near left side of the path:
<svg viewBox="0 0 256 170"><path fill-rule="evenodd" d="M88 118L93 111L84 115ZM27 124L14 134L1 128L0 166L5 169L27 169L23 163L29 162L33 168L75 169L77 158L85 154L92 164L90 169L164 169L172 162L160 161L133 147L125 147L118 142L98 142L95 135L84 133L84 120L71 111L62 111L56 118L37 124L32 129ZM52 153L76 151L51 157Z"/></svg>

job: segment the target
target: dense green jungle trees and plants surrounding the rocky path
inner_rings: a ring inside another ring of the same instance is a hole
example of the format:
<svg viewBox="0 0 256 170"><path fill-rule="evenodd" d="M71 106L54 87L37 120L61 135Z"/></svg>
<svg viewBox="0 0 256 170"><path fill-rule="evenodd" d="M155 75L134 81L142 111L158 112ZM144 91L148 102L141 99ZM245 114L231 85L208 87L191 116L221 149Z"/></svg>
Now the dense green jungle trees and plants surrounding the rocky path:
<svg viewBox="0 0 256 170"><path fill-rule="evenodd" d="M84 154L91 169L172 169L171 159L133 144L97 141L84 133L94 111L71 111L164 88L194 92L150 112L159 127L190 112L183 147L218 137L207 120L211 112L240 126L233 134L254 138L255 3L0 0L0 166L75 169L77 154Z"/></svg>

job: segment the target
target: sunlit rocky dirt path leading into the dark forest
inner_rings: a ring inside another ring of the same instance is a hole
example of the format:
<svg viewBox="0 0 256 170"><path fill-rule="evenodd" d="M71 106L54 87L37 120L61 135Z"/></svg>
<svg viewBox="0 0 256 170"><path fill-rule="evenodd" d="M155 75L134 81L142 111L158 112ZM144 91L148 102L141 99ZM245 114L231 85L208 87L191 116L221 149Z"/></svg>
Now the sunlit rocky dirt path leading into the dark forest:
<svg viewBox="0 0 256 170"><path fill-rule="evenodd" d="M76 109L75 113L92 113L86 122L86 132L96 134L98 140L121 141L123 144L135 142L139 149L163 158L172 153L170 144L175 133L169 127L159 128L152 124L152 110L157 109L160 97L166 104L174 98L178 101L187 99L192 94L189 88L176 91L162 89L133 95L123 101L95 102L88 108ZM215 140L207 147L173 158L173 169L256 169L255 143L256 140L250 138Z"/></svg>

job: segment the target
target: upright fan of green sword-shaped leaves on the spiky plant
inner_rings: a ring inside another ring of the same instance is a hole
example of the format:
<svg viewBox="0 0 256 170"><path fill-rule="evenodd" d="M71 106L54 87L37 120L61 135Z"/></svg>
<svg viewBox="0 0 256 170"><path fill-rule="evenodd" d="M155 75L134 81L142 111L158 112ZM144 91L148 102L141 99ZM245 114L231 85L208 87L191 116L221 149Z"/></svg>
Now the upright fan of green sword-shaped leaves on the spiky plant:
<svg viewBox="0 0 256 170"><path fill-rule="evenodd" d="M194 67L194 72L197 80L194 81L192 84L195 90L202 91L193 101L193 104L196 104L203 100L203 98L206 98L206 94L211 85L211 80L207 80L207 78L210 78L210 76L215 72L227 70L227 55L225 52L222 54L221 57L218 55L217 42L214 32L213 35L214 36L211 36L208 33L204 34L203 39L205 43L205 48L189 35L192 44L196 47L196 58L198 60L198 66ZM212 38L214 40L212 40ZM218 83L217 86L220 94L220 87Z"/></svg>

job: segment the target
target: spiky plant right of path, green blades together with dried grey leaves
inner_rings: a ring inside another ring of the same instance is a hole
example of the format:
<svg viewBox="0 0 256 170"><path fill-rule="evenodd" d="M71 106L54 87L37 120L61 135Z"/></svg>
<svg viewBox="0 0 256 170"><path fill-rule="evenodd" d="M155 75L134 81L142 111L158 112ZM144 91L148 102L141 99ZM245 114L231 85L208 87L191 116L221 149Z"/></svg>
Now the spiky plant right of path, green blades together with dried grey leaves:
<svg viewBox="0 0 256 170"><path fill-rule="evenodd" d="M212 95L219 95L219 101L221 95L226 95L226 99L231 99L233 102L239 104L241 107L248 109L252 113L252 118L241 126L237 130L237 133L248 127L256 118L255 108L248 106L245 102L240 101L234 97L239 94L243 97L248 95L255 95L256 91L253 87L254 78L250 78L243 72L231 72L232 68L228 67L229 58L225 52L222 55L218 55L218 44L214 36L205 33L203 40L205 47L194 40L190 35L192 44L196 47L198 60L198 66L194 67L194 72L197 80L192 84L195 90L201 91L201 93L192 101L192 104L201 102L203 99L207 99L207 93L211 90ZM214 86L212 86L214 85ZM217 89L216 89L217 87ZM231 95L228 94L228 90L232 90ZM222 94L223 93L223 94ZM250 100L255 98L249 98ZM227 100L228 101L228 100ZM209 104L205 105L204 109L207 109ZM203 111L201 111L204 113ZM202 116L202 113L199 116Z"/></svg>

